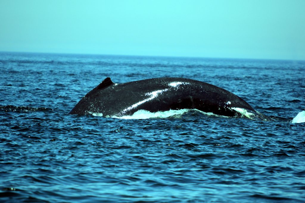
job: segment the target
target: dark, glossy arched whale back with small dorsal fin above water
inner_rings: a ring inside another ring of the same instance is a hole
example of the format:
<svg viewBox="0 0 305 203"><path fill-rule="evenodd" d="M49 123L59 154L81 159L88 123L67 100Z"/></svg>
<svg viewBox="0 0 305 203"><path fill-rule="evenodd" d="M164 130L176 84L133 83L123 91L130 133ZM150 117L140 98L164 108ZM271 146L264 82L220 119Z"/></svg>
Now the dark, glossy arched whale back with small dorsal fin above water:
<svg viewBox="0 0 305 203"><path fill-rule="evenodd" d="M88 92L68 114L105 117L197 109L220 116L240 117L241 110L267 119L241 97L215 85L187 78L151 78L117 84L108 77Z"/></svg>

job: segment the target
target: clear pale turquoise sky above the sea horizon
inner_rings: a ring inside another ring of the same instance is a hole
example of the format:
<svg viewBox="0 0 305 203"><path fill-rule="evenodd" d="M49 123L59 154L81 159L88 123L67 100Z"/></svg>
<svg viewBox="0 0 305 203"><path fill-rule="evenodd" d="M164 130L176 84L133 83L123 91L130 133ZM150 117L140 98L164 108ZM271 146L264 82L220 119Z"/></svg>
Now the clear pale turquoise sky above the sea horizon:
<svg viewBox="0 0 305 203"><path fill-rule="evenodd" d="M305 0L0 0L0 51L305 60Z"/></svg>

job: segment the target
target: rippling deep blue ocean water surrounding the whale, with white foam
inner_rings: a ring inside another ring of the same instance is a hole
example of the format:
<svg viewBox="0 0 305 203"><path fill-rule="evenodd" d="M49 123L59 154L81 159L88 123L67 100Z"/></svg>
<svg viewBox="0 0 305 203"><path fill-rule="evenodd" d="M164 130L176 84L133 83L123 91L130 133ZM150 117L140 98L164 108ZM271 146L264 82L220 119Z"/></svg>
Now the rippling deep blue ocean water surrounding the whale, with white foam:
<svg viewBox="0 0 305 203"><path fill-rule="evenodd" d="M305 202L305 61L2 52L0 71L0 202ZM208 82L274 121L68 115L106 77Z"/></svg>

